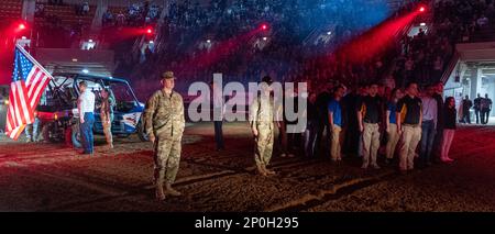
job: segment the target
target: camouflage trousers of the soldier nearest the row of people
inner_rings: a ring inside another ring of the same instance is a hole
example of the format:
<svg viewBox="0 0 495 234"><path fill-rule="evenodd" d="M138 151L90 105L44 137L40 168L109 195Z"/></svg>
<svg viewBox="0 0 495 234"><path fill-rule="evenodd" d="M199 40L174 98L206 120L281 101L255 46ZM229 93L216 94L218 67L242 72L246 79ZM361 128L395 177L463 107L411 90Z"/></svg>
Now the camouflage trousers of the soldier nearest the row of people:
<svg viewBox="0 0 495 234"><path fill-rule="evenodd" d="M273 123L263 123L257 125L257 137L254 148L254 160L256 166L268 166L273 153L274 126Z"/></svg>

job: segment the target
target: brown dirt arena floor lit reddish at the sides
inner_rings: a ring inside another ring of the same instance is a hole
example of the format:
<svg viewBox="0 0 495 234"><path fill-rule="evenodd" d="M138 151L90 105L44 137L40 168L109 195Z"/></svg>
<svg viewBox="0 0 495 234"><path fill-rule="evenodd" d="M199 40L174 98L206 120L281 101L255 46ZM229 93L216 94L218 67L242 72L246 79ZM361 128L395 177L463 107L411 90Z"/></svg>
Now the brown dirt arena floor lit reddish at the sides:
<svg viewBox="0 0 495 234"><path fill-rule="evenodd" d="M394 166L360 169L326 158L274 155L272 177L255 175L245 123L224 125L217 153L212 124L190 125L175 187L184 196L153 199L151 143L117 138L95 157L63 144L0 140L0 211L495 211L495 127L461 127L451 165L397 175Z"/></svg>

